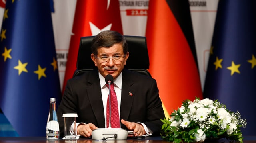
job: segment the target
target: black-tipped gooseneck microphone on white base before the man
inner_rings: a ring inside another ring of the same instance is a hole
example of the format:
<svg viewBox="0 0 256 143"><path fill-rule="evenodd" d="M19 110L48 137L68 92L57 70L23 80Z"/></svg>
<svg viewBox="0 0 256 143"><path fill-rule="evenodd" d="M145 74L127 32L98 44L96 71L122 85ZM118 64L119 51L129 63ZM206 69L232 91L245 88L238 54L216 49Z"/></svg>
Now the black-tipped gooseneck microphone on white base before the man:
<svg viewBox="0 0 256 143"><path fill-rule="evenodd" d="M109 125L108 128L98 128L92 131L92 139L98 141L106 140L126 140L128 131L121 128L111 128L111 102L110 102L110 84L113 84L113 76L108 74L105 77L105 82L108 84L108 100L109 100Z"/></svg>

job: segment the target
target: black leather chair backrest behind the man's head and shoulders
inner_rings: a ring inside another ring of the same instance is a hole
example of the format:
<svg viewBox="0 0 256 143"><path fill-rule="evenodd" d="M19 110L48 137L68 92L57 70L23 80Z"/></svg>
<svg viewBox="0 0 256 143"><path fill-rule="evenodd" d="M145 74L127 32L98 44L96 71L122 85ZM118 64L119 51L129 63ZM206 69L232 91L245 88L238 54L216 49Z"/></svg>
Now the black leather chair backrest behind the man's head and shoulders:
<svg viewBox="0 0 256 143"><path fill-rule="evenodd" d="M124 68L150 76L148 48L146 37L142 36L124 36L128 44L129 57ZM91 71L95 67L91 59L91 42L94 36L81 37L76 63L76 71L74 76L78 76L84 72Z"/></svg>

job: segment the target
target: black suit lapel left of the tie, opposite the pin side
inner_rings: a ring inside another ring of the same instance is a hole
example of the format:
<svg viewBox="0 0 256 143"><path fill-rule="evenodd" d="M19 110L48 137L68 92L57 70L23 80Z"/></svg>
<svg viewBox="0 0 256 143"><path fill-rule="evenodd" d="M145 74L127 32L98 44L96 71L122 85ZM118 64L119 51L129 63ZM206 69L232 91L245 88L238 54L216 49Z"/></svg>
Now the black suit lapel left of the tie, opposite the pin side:
<svg viewBox="0 0 256 143"><path fill-rule="evenodd" d="M92 75L89 76L87 84L90 84L87 94L92 106L92 111L94 112L95 118L98 122L99 128L105 128L105 118L104 118L104 108L101 89L100 89L100 80L98 75L98 70L91 72Z"/></svg>

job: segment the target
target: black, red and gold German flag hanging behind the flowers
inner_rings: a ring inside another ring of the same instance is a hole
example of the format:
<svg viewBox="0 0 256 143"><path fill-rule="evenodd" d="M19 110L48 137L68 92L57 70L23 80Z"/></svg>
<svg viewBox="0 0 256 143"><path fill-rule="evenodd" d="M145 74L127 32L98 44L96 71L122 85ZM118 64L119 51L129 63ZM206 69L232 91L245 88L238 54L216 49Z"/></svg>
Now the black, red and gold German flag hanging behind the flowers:
<svg viewBox="0 0 256 143"><path fill-rule="evenodd" d="M150 0L146 38L165 115L185 99L202 99L188 0Z"/></svg>

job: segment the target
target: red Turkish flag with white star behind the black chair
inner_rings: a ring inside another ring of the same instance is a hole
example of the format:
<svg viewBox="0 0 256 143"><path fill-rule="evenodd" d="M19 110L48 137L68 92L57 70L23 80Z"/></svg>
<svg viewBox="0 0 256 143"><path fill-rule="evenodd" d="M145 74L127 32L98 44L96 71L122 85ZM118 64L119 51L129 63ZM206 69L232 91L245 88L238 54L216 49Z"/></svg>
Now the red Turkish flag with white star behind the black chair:
<svg viewBox="0 0 256 143"><path fill-rule="evenodd" d="M118 0L78 0L72 30L74 35L71 36L70 40L63 91L67 80L72 78L76 70L80 38L97 35L104 30L123 33Z"/></svg>

